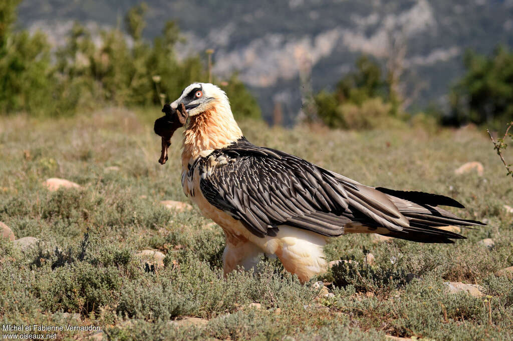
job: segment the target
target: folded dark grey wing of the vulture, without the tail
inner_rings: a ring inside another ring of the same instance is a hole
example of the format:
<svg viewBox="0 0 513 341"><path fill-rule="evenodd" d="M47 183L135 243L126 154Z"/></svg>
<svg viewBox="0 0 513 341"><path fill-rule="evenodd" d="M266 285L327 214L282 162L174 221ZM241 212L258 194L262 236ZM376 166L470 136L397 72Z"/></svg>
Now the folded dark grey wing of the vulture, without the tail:
<svg viewBox="0 0 513 341"><path fill-rule="evenodd" d="M207 201L260 237L284 224L325 236L341 235L351 221L398 231L409 226L380 191L284 152L242 141L202 162Z"/></svg>

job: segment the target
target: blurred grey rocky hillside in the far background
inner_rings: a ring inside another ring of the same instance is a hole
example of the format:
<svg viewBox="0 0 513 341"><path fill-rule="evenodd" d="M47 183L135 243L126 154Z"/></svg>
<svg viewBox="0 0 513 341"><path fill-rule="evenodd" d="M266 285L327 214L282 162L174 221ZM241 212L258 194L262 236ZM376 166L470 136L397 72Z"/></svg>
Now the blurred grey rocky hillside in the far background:
<svg viewBox="0 0 513 341"><path fill-rule="evenodd" d="M443 102L462 73L465 49L489 52L498 44L513 45L511 0L146 2L148 38L166 20L176 20L187 38L182 54L215 49L216 74L238 70L259 97L264 116L281 102L289 122L301 108L302 78L311 79L315 91L329 89L362 53L403 70L403 91L415 109ZM58 43L73 20L120 25L136 3L25 0L19 24L42 28Z"/></svg>

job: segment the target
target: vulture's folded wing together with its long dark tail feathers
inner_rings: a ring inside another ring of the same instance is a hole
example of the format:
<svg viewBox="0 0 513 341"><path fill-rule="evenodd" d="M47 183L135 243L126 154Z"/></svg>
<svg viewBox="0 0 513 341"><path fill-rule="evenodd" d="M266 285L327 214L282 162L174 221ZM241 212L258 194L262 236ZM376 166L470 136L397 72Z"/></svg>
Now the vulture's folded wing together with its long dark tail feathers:
<svg viewBox="0 0 513 341"><path fill-rule="evenodd" d="M245 138L202 158L197 167L205 199L259 237L275 236L280 225L334 237L344 233L344 225L358 223L367 233L385 228L380 234L452 243L464 237L437 227L483 225L436 207L463 207L451 198L368 187Z"/></svg>

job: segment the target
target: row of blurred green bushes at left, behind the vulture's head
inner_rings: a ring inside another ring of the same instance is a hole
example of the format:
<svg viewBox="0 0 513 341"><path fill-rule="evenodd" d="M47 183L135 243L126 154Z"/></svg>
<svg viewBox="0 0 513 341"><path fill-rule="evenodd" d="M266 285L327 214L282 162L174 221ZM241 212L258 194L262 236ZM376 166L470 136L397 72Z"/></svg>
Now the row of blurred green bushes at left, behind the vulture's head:
<svg viewBox="0 0 513 341"><path fill-rule="evenodd" d="M199 55L178 60L182 38L174 22L164 25L152 44L143 39L145 3L125 16L127 36L119 28L100 32L100 43L75 23L66 44L51 52L44 34L12 32L19 1L0 5L0 112L72 115L98 105L147 106L174 99L194 81L208 79ZM53 62L51 62L53 61ZM236 75L224 89L238 117L260 118L260 108Z"/></svg>

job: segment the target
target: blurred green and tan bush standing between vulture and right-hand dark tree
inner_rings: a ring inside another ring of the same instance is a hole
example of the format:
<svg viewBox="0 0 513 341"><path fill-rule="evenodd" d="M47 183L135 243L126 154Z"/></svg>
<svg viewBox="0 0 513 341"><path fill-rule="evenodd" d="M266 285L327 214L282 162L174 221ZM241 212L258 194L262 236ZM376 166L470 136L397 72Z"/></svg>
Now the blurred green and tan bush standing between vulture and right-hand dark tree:
<svg viewBox="0 0 513 341"><path fill-rule="evenodd" d="M389 94L390 86L378 63L362 55L356 61L356 71L342 78L333 92L315 95L315 104L319 118L329 127L372 129L384 119L400 116L399 106Z"/></svg>

